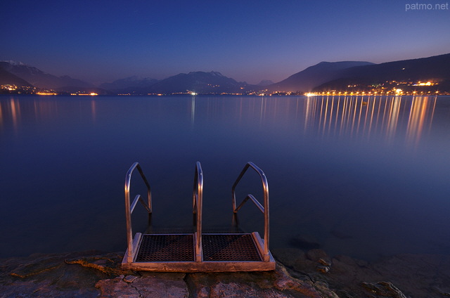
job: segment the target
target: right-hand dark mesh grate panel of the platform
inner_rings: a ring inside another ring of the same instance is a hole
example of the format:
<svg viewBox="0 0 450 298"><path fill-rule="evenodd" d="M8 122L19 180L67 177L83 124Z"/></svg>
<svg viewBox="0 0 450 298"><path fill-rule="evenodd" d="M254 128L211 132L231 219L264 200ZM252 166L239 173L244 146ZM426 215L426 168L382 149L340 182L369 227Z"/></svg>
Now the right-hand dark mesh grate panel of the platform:
<svg viewBox="0 0 450 298"><path fill-rule="evenodd" d="M204 261L262 261L250 234L204 234Z"/></svg>

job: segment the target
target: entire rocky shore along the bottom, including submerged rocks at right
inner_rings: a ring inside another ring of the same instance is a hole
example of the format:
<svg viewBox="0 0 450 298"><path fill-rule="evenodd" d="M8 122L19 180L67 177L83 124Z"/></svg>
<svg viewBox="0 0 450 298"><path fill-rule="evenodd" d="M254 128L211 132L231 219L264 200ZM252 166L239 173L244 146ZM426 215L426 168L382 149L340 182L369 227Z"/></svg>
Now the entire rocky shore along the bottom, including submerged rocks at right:
<svg viewBox="0 0 450 298"><path fill-rule="evenodd" d="M122 271L122 253L2 259L0 297L450 297L450 257L401 254L369 264L323 250L273 251L275 271Z"/></svg>

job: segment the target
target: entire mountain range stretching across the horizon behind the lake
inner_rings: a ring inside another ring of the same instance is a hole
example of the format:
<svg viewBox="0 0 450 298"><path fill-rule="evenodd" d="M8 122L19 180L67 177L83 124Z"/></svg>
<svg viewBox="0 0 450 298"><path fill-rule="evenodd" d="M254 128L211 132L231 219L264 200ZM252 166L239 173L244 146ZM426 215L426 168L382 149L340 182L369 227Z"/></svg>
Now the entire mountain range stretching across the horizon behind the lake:
<svg viewBox="0 0 450 298"><path fill-rule="evenodd" d="M166 79L127 77L94 86L68 76L56 77L36 67L0 62L0 84L35 86L59 92L96 92L99 94L148 93L304 93L309 91L344 90L347 86L372 86L387 81L435 80L450 91L450 53L374 64L364 61L321 62L273 84L263 80L257 85L237 82L220 72L189 72ZM442 88L441 88L442 89Z"/></svg>

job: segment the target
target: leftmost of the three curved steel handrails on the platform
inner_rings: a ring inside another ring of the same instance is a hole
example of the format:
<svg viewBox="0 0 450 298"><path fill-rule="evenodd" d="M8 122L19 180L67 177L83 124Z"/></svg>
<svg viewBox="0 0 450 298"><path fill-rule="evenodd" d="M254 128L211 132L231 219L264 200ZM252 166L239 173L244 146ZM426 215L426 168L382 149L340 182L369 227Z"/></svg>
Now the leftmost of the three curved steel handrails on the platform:
<svg viewBox="0 0 450 298"><path fill-rule="evenodd" d="M139 174L141 174L141 178L143 179L143 182L146 183L147 204L141 198L141 195L136 195L136 197L134 197L134 200L130 205L129 188L131 185L131 174L133 174L134 169L138 169ZM133 261L133 252L134 252L133 231L131 230L131 213L134 211L134 207L136 207L136 204L138 201L141 201L142 205L144 207L146 207L147 212L149 214L152 213L152 199L151 199L151 192L150 192L150 183L148 183L148 180L146 179L146 175L143 174L143 171L142 171L141 166L139 165L139 162L134 162L134 164L131 165L131 167L127 171L127 175L125 176L125 219L127 221L127 243L128 243L127 261L129 263L131 263Z"/></svg>

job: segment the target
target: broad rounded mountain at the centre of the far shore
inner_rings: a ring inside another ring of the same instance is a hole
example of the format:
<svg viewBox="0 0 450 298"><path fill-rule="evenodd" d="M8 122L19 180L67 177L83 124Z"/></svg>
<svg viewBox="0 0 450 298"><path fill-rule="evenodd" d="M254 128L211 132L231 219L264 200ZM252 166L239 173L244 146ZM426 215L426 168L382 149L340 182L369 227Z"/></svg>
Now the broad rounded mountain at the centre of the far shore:
<svg viewBox="0 0 450 298"><path fill-rule="evenodd" d="M243 93L244 91L259 89L254 85L225 77L220 72L189 72L176 74L146 89L147 93Z"/></svg>

